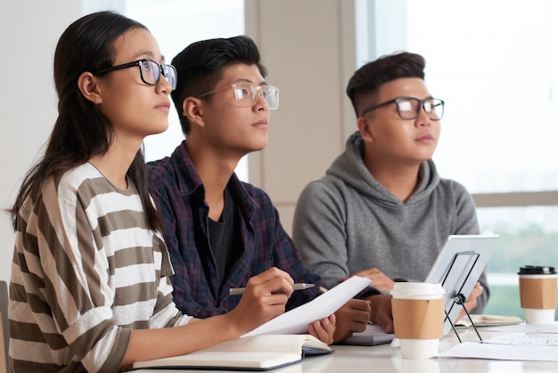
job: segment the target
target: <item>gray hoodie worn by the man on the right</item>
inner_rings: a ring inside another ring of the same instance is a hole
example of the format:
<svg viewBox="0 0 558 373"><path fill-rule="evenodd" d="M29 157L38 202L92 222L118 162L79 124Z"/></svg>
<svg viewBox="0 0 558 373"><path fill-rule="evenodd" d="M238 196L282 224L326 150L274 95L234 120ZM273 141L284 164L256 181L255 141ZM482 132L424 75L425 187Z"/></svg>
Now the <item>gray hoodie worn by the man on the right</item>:
<svg viewBox="0 0 558 373"><path fill-rule="evenodd" d="M421 164L420 184L406 203L382 187L363 161L358 132L325 176L302 191L292 239L302 261L334 286L341 278L376 267L390 278L423 281L449 235L479 234L475 205L459 183L439 178L434 162ZM489 296L484 289L475 313Z"/></svg>

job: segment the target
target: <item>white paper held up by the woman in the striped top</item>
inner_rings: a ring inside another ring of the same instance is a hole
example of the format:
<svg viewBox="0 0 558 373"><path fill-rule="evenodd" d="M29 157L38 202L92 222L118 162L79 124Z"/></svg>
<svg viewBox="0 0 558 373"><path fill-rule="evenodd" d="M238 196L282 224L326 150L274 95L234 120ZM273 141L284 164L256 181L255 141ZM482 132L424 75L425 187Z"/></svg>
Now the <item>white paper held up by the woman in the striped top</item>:
<svg viewBox="0 0 558 373"><path fill-rule="evenodd" d="M256 327L242 337L258 336L260 334L308 333L308 324L317 319L324 319L339 310L343 304L349 302L349 299L360 293L371 282L369 278L358 276L348 278L311 302L302 304L300 307L267 321L267 323Z"/></svg>

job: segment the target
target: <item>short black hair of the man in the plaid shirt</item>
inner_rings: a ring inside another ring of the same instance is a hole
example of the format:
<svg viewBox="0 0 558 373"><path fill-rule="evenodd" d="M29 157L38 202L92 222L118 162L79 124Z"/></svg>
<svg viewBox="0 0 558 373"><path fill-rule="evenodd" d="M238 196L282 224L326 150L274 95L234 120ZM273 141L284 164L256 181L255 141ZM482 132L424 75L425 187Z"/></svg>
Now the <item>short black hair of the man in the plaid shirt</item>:
<svg viewBox="0 0 558 373"><path fill-rule="evenodd" d="M182 103L186 97L211 91L222 79L224 68L236 63L257 65L261 76L267 76L266 68L260 63L258 46L245 35L195 42L176 54L171 63L177 75L171 97L185 135L190 132L190 122L182 115Z"/></svg>

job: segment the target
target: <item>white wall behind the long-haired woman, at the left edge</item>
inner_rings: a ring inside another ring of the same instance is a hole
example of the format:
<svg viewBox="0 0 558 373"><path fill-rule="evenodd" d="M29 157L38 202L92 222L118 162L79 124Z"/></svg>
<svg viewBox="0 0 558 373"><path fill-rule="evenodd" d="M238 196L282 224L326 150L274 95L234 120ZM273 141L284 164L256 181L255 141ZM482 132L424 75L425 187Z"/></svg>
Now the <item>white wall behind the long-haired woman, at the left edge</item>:
<svg viewBox="0 0 558 373"><path fill-rule="evenodd" d="M56 95L53 53L63 30L81 14L76 0L53 3L0 0L0 279L10 278L13 230L4 209L11 207L21 180L53 128ZM57 10L62 9L63 12Z"/></svg>

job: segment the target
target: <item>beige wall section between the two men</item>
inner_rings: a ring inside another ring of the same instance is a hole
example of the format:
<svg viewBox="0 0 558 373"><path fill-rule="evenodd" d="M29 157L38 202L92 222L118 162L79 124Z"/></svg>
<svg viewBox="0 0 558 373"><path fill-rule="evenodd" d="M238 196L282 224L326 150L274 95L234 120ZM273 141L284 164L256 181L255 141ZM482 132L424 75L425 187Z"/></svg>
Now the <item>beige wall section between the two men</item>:
<svg viewBox="0 0 558 373"><path fill-rule="evenodd" d="M291 232L295 203L324 175L357 129L345 87L356 68L355 2L246 0L246 33L281 90L269 143L250 154L250 181L262 187Z"/></svg>

